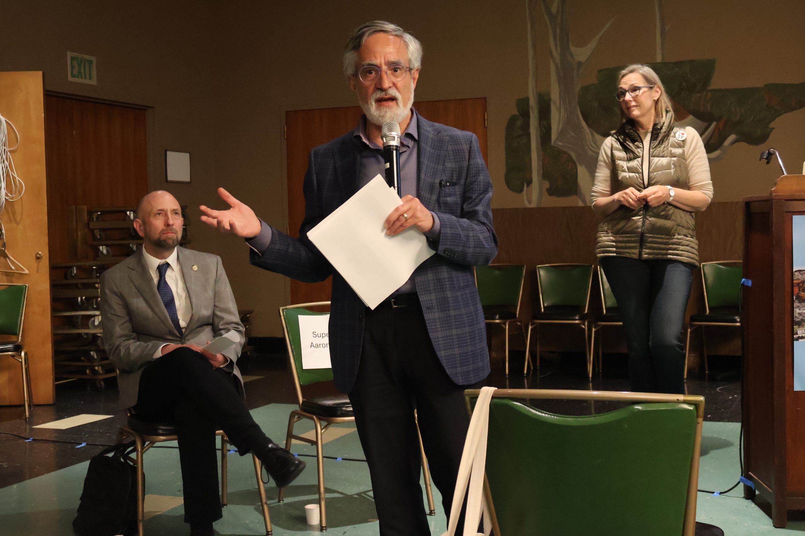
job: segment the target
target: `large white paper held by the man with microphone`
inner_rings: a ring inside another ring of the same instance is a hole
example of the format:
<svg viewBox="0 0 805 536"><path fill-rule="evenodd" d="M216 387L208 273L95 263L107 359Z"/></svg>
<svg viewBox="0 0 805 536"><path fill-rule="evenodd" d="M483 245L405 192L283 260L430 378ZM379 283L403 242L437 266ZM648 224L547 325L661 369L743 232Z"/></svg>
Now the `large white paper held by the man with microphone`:
<svg viewBox="0 0 805 536"><path fill-rule="evenodd" d="M308 231L310 241L369 309L403 286L416 267L434 254L415 227L386 235L383 224L400 204L378 174Z"/></svg>

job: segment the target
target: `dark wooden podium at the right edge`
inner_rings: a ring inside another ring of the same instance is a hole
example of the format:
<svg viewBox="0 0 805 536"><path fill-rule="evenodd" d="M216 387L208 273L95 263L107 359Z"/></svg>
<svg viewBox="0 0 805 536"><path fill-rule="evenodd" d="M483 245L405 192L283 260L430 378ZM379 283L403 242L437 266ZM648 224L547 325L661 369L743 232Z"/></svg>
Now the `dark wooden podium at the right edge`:
<svg viewBox="0 0 805 536"><path fill-rule="evenodd" d="M805 215L805 175L744 199L744 496L771 503L774 526L805 509L805 391L794 391L791 217ZM762 496L757 497L757 494Z"/></svg>

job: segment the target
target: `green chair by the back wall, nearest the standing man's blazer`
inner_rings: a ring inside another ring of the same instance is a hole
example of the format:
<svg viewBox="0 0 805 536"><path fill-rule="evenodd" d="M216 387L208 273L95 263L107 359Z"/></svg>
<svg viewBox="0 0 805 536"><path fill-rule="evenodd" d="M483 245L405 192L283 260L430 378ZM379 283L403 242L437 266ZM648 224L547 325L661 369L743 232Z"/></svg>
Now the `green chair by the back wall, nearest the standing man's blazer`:
<svg viewBox="0 0 805 536"><path fill-rule="evenodd" d="M525 264L490 264L475 268L475 283L484 321L487 325L502 325L506 331L506 375L509 375L509 325L520 326L525 337L526 329L518 320L522 301L522 282L526 278Z"/></svg>

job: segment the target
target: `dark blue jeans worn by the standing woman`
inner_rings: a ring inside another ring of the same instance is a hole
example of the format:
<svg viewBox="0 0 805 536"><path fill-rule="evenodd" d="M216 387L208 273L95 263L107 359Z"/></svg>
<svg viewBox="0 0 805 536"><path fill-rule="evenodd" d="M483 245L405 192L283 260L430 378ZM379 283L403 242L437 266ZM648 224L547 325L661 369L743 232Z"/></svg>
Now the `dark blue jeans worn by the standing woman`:
<svg viewBox="0 0 805 536"><path fill-rule="evenodd" d="M685 392L682 329L693 264L679 260L599 259L626 332L631 390Z"/></svg>

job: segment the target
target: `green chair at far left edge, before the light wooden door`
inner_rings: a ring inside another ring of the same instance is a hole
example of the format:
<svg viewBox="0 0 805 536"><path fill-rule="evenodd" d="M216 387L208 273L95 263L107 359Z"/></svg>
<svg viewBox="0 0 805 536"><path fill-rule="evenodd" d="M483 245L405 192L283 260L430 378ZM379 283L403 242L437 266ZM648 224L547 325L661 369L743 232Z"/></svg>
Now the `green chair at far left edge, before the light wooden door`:
<svg viewBox="0 0 805 536"><path fill-rule="evenodd" d="M23 403L25 420L31 416L31 374L28 370L28 354L23 346L23 321L28 285L0 283L0 335L14 337L15 340L0 342L0 355L10 355L19 362L23 371Z"/></svg>

